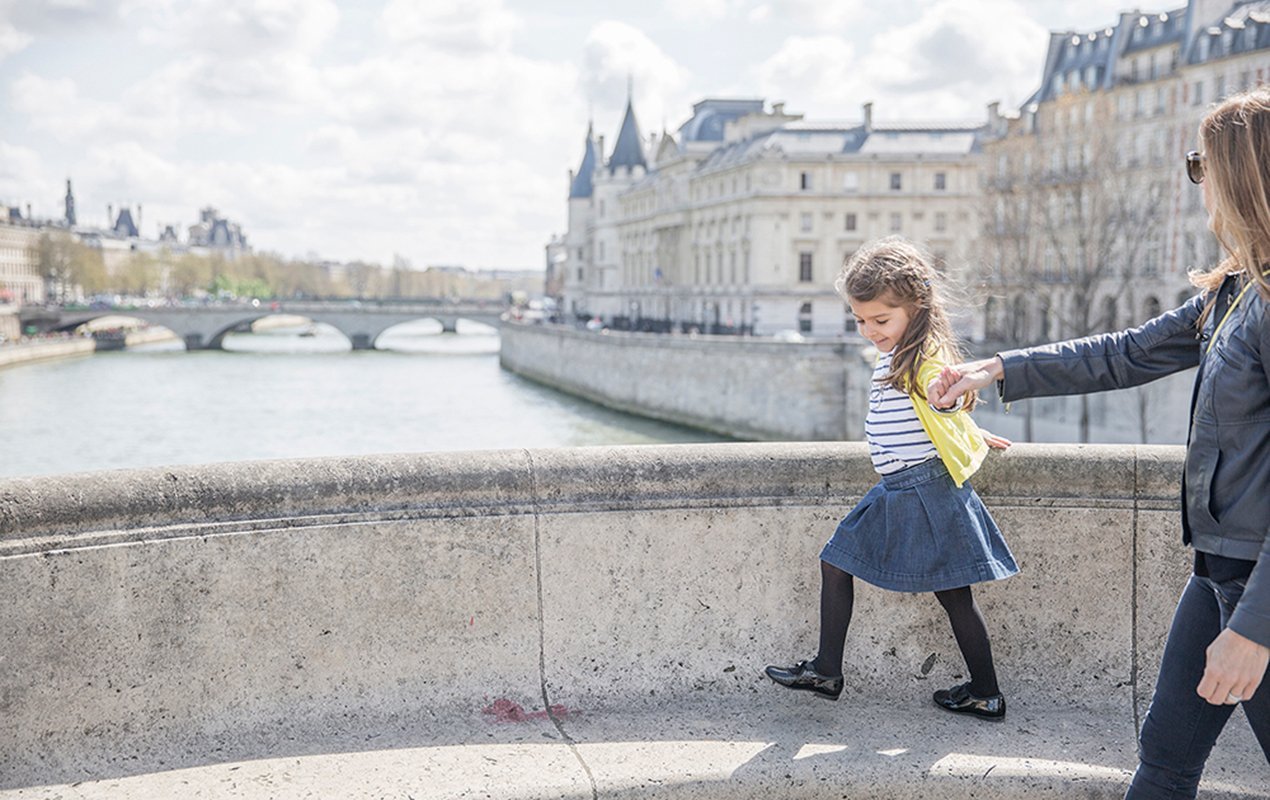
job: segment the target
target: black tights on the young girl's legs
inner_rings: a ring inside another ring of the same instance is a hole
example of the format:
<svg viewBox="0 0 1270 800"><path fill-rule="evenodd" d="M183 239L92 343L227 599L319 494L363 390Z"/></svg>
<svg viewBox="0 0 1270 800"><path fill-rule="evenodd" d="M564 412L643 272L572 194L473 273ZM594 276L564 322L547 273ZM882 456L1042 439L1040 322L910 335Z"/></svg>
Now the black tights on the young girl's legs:
<svg viewBox="0 0 1270 800"><path fill-rule="evenodd" d="M992 643L970 587L936 592L935 597L949 615L952 635L970 670L970 693L979 697L996 695L999 690L997 670L992 665ZM815 670L823 676L842 674L842 649L853 607L855 579L820 561L820 650L815 657Z"/></svg>

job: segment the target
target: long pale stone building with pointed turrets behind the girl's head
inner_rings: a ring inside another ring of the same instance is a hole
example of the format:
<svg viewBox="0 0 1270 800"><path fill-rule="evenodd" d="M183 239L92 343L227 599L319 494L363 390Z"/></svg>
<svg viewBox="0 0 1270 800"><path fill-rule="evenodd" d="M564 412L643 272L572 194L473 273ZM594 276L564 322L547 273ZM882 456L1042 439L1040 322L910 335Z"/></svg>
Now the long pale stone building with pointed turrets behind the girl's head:
<svg viewBox="0 0 1270 800"><path fill-rule="evenodd" d="M617 328L834 337L843 260L902 234L965 268L980 124L815 123L761 99L706 99L676 135L588 130L559 262L565 316Z"/></svg>

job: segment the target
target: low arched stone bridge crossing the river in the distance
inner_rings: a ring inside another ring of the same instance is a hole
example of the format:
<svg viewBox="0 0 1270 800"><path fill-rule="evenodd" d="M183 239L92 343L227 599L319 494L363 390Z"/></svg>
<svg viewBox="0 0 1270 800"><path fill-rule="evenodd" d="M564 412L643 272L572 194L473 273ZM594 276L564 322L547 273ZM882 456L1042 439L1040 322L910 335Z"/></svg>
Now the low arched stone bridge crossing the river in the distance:
<svg viewBox="0 0 1270 800"><path fill-rule="evenodd" d="M251 303L213 303L206 306L58 309L28 306L19 311L23 330L74 330L104 316L128 316L173 331L189 350L221 349L225 337L251 330L253 323L268 316L302 316L330 325L344 334L354 350L375 349L378 337L395 325L418 320L437 320L442 330L453 333L458 320L502 325L502 303L377 303L366 301L314 302L272 301Z"/></svg>

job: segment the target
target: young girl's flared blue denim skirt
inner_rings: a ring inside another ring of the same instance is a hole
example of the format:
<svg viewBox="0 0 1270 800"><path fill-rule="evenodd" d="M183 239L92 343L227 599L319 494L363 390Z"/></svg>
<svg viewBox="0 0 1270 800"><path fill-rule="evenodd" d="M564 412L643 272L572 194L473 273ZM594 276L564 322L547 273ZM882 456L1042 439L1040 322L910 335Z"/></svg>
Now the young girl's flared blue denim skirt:
<svg viewBox="0 0 1270 800"><path fill-rule="evenodd" d="M893 592L942 592L1019 571L983 500L939 458L883 475L820 560Z"/></svg>

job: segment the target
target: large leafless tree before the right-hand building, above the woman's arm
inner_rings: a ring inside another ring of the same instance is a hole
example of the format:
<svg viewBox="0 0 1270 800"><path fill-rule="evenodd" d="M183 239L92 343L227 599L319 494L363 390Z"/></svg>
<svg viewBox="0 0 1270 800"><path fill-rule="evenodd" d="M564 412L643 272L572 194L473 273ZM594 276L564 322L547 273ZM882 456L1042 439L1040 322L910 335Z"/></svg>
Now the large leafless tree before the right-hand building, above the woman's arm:
<svg viewBox="0 0 1270 800"><path fill-rule="evenodd" d="M1066 94L984 147L983 277L1005 315L988 329L1012 344L1119 328L1134 279L1158 269L1167 180L1142 131L1111 112L1105 93ZM1080 439L1090 439L1087 395Z"/></svg>

